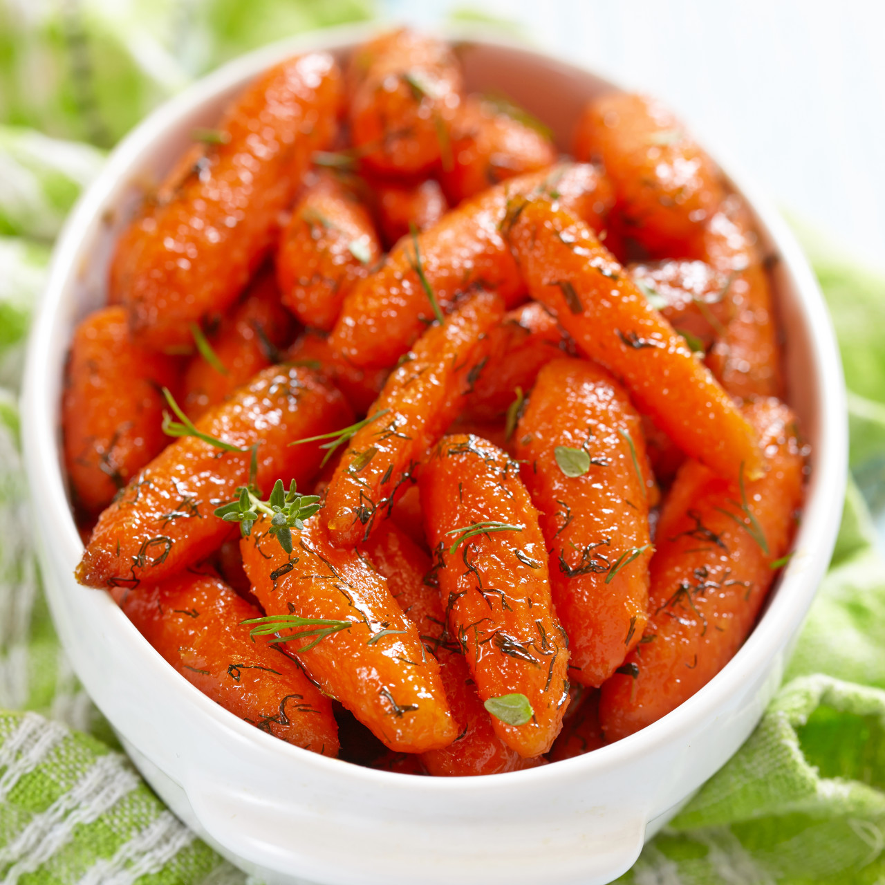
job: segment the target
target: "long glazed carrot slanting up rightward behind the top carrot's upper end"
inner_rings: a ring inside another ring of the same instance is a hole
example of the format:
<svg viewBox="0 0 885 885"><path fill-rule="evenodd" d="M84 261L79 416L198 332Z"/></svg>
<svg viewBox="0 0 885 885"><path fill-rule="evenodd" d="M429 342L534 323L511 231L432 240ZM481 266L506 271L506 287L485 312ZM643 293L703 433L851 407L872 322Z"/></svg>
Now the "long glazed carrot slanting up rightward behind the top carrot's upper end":
<svg viewBox="0 0 885 885"><path fill-rule="evenodd" d="M344 299L333 347L358 366L395 365L434 317L419 270L443 312L479 288L494 290L508 308L525 300L525 283L499 228L513 198L535 190L591 227L604 224L610 191L592 165L565 163L504 181L448 212L417 242L398 242L381 269Z"/></svg>

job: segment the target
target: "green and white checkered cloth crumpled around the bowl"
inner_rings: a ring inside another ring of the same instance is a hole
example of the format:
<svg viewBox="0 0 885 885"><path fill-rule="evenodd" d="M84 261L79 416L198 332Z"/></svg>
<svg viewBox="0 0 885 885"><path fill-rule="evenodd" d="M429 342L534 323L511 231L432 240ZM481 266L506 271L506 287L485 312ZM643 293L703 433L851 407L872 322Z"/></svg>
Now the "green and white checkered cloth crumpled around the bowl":
<svg viewBox="0 0 885 885"><path fill-rule="evenodd" d="M119 752L59 647L42 595L18 447L21 344L50 241L102 155L23 126L112 142L205 67L363 7L80 0L70 7L76 14L59 17L48 0L31 5L25 17L23 4L0 0L0 124L13 124L0 125L0 879L243 885L246 876L175 820ZM185 13L189 27L178 27ZM59 59L82 64L65 55L72 45L94 52L89 95L59 73ZM160 64L169 58L174 65ZM48 81L25 78L35 59L46 62ZM885 561L870 515L885 510L885 280L803 236L851 390L855 481L833 562L756 732L623 882L885 885Z"/></svg>

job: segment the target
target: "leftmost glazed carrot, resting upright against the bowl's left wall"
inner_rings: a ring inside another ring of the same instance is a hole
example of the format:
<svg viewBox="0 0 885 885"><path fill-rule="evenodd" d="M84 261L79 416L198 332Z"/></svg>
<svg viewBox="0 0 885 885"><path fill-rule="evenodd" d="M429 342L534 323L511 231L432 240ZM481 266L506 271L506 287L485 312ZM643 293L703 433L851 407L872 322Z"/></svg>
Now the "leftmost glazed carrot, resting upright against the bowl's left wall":
<svg viewBox="0 0 885 885"><path fill-rule="evenodd" d="M175 388L178 362L132 342L126 312L105 307L84 319L71 343L62 400L65 467L89 515L169 442L163 387Z"/></svg>

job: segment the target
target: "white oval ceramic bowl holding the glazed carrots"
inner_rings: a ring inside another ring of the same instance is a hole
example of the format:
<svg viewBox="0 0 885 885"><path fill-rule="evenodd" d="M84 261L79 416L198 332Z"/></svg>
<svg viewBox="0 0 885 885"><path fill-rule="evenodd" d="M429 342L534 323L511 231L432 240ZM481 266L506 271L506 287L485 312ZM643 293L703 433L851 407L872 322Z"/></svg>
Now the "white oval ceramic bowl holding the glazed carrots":
<svg viewBox="0 0 885 885"><path fill-rule="evenodd" d="M789 399L812 443L813 469L797 555L764 617L734 660L664 719L589 755L531 771L450 780L373 771L290 746L213 704L165 664L110 596L73 581L82 544L60 467L65 351L74 324L104 304L112 244L140 188L157 181L193 128L212 126L258 71L301 50L346 50L369 33L358 27L307 35L199 81L119 145L69 219L30 342L23 415L52 615L89 695L158 794L222 854L268 882L611 881L750 735L781 680L842 510L844 388L827 311L780 217L730 166L735 188L780 257L774 279L788 339ZM461 54L470 89L512 96L566 145L581 105L614 89L488 35L467 42Z"/></svg>

